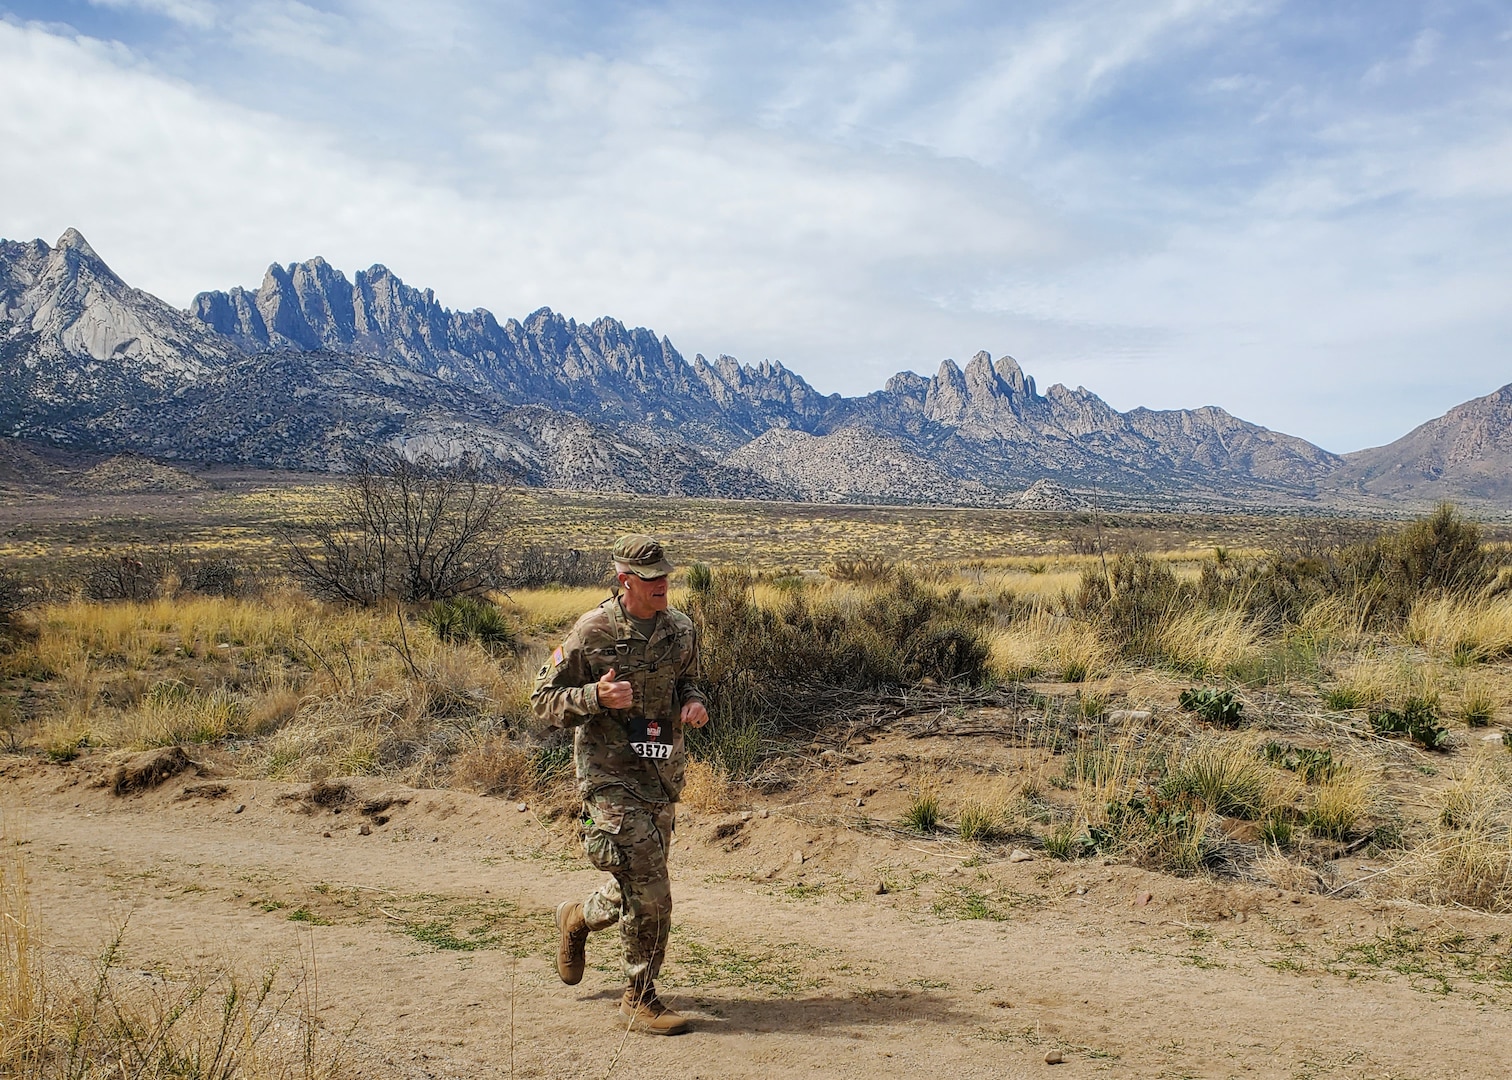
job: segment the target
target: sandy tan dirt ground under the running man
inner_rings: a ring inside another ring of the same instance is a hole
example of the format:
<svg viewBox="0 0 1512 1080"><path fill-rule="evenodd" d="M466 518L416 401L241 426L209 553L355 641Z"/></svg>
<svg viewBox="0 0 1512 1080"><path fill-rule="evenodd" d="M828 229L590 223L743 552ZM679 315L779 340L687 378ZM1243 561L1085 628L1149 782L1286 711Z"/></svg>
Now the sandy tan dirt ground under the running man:
<svg viewBox="0 0 1512 1080"><path fill-rule="evenodd" d="M116 797L88 767L3 762L57 962L122 921L144 967L313 950L364 1077L511 1075L511 1054L517 1077L1512 1075L1512 980L1371 948L1406 927L1504 953L1512 920L857 827L854 803L889 796L883 755L683 812L661 988L694 1032L671 1039L615 1023L612 933L558 982L550 909L599 876L547 808L372 779L360 797L410 802L364 817L203 776Z"/></svg>

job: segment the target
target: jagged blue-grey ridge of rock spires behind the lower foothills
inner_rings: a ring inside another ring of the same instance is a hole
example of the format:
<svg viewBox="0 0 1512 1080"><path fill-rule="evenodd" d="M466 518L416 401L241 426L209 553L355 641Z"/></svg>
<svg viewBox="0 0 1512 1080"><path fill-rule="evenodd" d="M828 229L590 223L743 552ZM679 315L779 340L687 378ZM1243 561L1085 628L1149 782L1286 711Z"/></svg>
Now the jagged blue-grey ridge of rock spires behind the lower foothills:
<svg viewBox="0 0 1512 1080"><path fill-rule="evenodd" d="M1083 387L1057 384L1040 395L1013 357L993 362L986 352L965 369L945 360L933 377L900 372L860 398L821 395L776 362L697 355L689 365L667 337L609 318L578 324L540 309L500 322L485 309L452 312L429 289L413 289L381 265L358 271L354 281L319 257L274 265L256 292L200 293L191 312L245 346L364 349L488 386L520 404L618 424L671 421L724 454L777 428L829 436L865 425L918 443L912 449L924 455L943 455L939 464L974 486L1027 486L1046 472L1072 470L1140 486L1152 470L1181 472L1190 461L1204 486L1217 470L1238 483L1305 487L1340 463L1305 440L1211 405L1123 414ZM1089 436L1104 440L1101 451ZM1234 458L1241 467L1231 467L1225 436L1243 445ZM983 448L990 451L983 455ZM989 464L978 467L974 458Z"/></svg>

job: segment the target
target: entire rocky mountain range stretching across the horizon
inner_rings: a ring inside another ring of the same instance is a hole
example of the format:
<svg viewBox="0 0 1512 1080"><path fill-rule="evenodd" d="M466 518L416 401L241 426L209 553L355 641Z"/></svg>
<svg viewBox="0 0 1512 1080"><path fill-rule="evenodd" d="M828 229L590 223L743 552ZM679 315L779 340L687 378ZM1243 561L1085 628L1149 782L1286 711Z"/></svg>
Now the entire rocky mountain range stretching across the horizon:
<svg viewBox="0 0 1512 1080"><path fill-rule="evenodd" d="M986 352L823 395L780 363L689 362L609 318L455 312L384 266L348 280L324 259L274 265L256 290L181 312L76 230L0 242L0 434L181 461L339 469L376 442L532 486L736 498L1016 505L1046 479L1057 501L1092 486L1219 504L1467 484L1512 498L1485 464L1509 454L1509 390L1341 458L1211 405L1120 413L1083 387L1040 393Z"/></svg>

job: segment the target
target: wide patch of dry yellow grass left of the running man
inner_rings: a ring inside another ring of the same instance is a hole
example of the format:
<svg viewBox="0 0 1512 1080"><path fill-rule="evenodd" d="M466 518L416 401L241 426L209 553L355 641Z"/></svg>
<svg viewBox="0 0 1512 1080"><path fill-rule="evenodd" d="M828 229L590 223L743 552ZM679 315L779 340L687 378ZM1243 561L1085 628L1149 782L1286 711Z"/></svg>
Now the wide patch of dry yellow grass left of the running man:
<svg viewBox="0 0 1512 1080"><path fill-rule="evenodd" d="M57 678L30 737L53 756L257 737L240 767L283 779L438 782L467 738L500 718L529 726L538 664L537 649L500 661L393 611L295 594L73 602L42 608L36 623L24 661Z"/></svg>

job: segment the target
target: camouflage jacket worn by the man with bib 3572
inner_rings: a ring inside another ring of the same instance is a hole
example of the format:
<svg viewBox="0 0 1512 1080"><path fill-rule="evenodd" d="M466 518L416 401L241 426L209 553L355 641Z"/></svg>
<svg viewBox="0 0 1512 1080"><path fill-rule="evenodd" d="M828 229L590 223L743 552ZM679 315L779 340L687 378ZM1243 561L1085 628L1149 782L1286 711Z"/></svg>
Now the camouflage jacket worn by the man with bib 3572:
<svg viewBox="0 0 1512 1080"><path fill-rule="evenodd" d="M611 667L632 687L629 708L599 705L596 684ZM576 622L541 667L531 711L576 728L573 759L584 799L621 787L649 803L674 803L688 764L679 714L683 703L703 700L697 678L699 641L688 616L658 613L647 638L609 597Z"/></svg>

